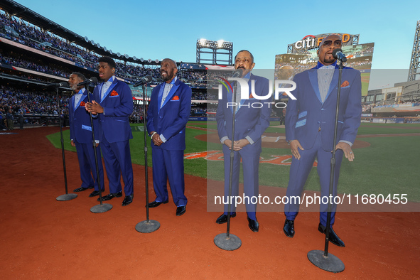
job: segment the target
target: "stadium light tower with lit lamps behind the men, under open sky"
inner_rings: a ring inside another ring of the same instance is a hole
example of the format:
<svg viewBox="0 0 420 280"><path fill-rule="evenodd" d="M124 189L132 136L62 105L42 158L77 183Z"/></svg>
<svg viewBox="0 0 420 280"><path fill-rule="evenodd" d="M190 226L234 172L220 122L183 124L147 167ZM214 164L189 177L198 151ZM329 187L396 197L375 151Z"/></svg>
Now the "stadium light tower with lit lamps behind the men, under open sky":
<svg viewBox="0 0 420 280"><path fill-rule="evenodd" d="M210 49L203 50L203 49ZM222 50L227 50L227 52L223 52ZM213 65L232 65L232 51L233 51L233 43L227 42L223 40L219 41L210 41L204 38L197 40L197 63L205 63L210 62ZM208 53L212 55L212 58L202 58L202 55ZM217 55L227 55L227 60L222 60L217 58Z"/></svg>

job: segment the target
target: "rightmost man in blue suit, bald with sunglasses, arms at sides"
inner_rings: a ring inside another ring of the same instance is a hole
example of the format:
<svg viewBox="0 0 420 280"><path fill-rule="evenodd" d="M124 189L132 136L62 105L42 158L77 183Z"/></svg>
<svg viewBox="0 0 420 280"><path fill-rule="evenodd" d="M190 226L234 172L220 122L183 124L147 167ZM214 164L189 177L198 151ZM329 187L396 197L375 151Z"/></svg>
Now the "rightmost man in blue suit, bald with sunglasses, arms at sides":
<svg viewBox="0 0 420 280"><path fill-rule="evenodd" d="M318 65L294 77L296 90L291 93L296 100L289 98L286 110L286 141L290 144L293 155L286 191L289 203L284 206L286 221L283 230L287 237L294 237L294 220L299 209L298 200L295 198L301 195L315 159L318 160L317 171L321 183L321 198L323 198L329 195L330 160L333 149L336 150L333 197L337 195L338 175L343 155L349 161L355 158L351 146L360 126L362 105L360 72L352 68L343 69L337 143L333 143L339 71L337 60L333 58L332 53L335 48L341 48L341 45L341 38L338 35L324 38L318 49ZM321 203L318 225L321 233L325 233L327 209L328 203ZM330 242L345 247L343 240L332 227L335 209L336 205L333 205Z"/></svg>

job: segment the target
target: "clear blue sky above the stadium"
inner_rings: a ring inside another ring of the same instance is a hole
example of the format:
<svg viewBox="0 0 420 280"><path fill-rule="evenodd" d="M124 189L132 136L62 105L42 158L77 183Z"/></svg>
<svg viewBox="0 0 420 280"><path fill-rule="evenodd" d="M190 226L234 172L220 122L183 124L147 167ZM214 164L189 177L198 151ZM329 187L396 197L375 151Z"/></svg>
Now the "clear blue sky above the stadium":
<svg viewBox="0 0 420 280"><path fill-rule="evenodd" d="M420 1L17 2L114 53L195 62L197 39L223 39L234 43L234 54L250 50L260 69L274 68L289 43L330 32L374 42L374 69L408 69L420 20Z"/></svg>

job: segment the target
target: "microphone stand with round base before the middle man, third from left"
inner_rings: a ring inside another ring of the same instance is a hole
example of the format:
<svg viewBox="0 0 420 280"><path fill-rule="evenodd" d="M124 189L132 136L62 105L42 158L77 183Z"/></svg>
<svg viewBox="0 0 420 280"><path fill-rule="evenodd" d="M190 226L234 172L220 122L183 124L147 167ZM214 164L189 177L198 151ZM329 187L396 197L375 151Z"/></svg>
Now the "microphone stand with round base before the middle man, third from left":
<svg viewBox="0 0 420 280"><path fill-rule="evenodd" d="M161 224L156 220L149 220L149 176L147 170L147 136L146 136L146 84L143 85L143 131L144 131L144 180L146 184L146 220L137 223L136 231L150 233L158 230Z"/></svg>

